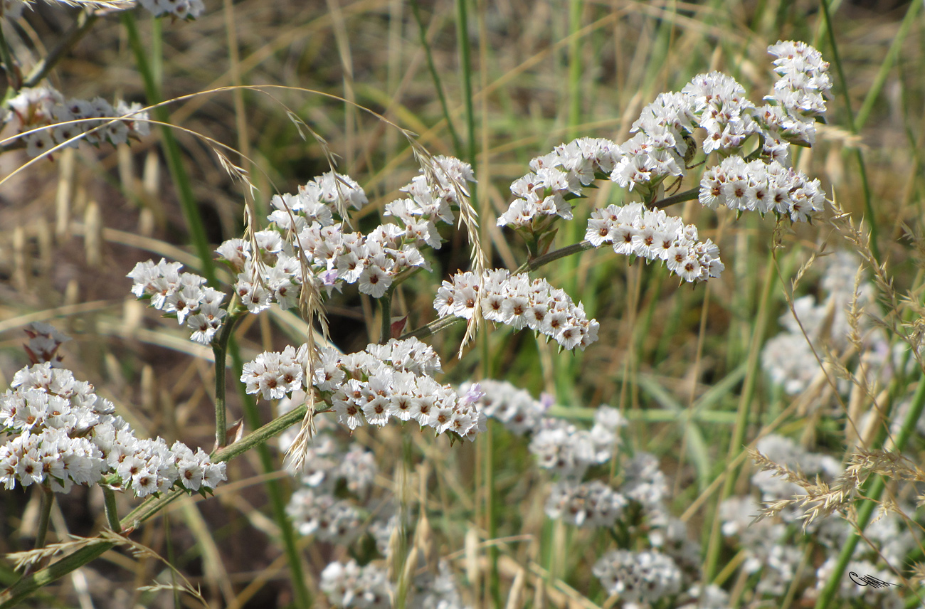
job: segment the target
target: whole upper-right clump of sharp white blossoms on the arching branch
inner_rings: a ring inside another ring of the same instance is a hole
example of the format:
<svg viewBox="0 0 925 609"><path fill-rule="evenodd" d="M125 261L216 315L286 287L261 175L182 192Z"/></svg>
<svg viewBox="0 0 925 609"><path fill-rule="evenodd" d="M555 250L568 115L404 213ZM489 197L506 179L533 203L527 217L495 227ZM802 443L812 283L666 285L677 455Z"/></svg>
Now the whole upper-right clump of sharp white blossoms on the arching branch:
<svg viewBox="0 0 925 609"><path fill-rule="evenodd" d="M745 88L722 72L698 74L681 92L661 93L643 108L626 142L580 138L534 158L532 171L512 183L515 198L498 225L517 230L531 255L542 255L555 234L553 221L573 218L570 201L586 196L584 189L594 180L611 180L643 203L625 205L621 212L614 205L596 210L587 241L596 247L612 243L620 254L661 259L687 281L718 277L723 265L716 246L697 242L696 230L655 209L666 180L681 180L690 169L697 130L706 132L703 153L722 155L721 164L708 168L700 182L703 205L807 221L821 209L824 196L819 180L789 168L788 147L814 142L814 120L824 115L824 96L832 88L829 65L803 43L779 42L768 51L777 57L774 70L781 78L764 106L748 101ZM746 155L752 137L759 146Z"/></svg>

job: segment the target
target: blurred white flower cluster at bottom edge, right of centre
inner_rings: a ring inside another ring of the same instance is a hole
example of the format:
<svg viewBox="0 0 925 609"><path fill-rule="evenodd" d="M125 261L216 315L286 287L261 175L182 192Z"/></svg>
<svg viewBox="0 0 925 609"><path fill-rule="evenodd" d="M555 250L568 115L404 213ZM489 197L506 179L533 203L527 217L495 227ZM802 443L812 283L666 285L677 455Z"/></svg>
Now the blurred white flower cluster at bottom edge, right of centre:
<svg viewBox="0 0 925 609"><path fill-rule="evenodd" d="M658 603L681 591L682 574L665 554L611 550L591 572L601 585L623 603Z"/></svg>

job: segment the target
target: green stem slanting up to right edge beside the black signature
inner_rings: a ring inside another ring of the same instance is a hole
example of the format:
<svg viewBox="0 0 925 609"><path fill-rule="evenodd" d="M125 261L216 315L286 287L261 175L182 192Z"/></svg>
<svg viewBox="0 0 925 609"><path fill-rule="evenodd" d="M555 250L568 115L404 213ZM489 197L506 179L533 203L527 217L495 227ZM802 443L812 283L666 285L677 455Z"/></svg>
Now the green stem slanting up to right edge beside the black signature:
<svg viewBox="0 0 925 609"><path fill-rule="evenodd" d="M925 375L919 378L919 386L912 397L912 405L909 407L906 419L903 420L903 427L899 429L895 436L894 453L901 453L906 448L906 442L916 429L916 424L923 410L925 410ZM857 542L861 540L861 534L870 522L870 516L873 514L874 508L879 505L880 497L885 489L886 478L877 476L870 482L867 491L863 493L863 499L867 501L861 503L860 507L857 508L857 525L851 529L851 533L842 546L842 552L838 554L833 572L829 579L826 580L825 586L816 600L816 609L826 609L832 604L835 594L842 583L842 578L845 577L848 562L855 553Z"/></svg>

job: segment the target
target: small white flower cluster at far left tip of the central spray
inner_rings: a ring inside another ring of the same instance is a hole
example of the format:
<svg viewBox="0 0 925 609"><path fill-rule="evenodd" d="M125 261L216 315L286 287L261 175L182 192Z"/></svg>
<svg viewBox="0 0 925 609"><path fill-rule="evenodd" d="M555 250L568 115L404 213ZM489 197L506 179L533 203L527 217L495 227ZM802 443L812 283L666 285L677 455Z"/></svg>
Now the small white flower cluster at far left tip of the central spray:
<svg viewBox="0 0 925 609"><path fill-rule="evenodd" d="M181 326L185 323L192 330L192 341L209 344L228 315L222 308L225 294L203 285L205 278L199 275L179 272L182 267L163 258L156 265L148 260L135 265L126 277L134 281L131 293L149 297L155 309L176 316Z"/></svg>

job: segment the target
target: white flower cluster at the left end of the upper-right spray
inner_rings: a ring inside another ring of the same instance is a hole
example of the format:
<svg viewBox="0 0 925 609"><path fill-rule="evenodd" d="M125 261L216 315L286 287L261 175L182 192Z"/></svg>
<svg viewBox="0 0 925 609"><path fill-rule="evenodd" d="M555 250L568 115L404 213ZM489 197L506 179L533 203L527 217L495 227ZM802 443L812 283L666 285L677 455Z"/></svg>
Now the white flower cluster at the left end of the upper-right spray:
<svg viewBox="0 0 925 609"><path fill-rule="evenodd" d="M530 161L531 173L511 184L516 198L498 218L498 226L517 229L546 217L572 219L572 205L566 197L581 196L582 186L598 175L610 174L622 156L617 144L594 138L579 138L556 146L549 155L537 156Z"/></svg>

